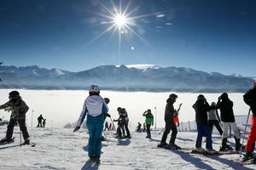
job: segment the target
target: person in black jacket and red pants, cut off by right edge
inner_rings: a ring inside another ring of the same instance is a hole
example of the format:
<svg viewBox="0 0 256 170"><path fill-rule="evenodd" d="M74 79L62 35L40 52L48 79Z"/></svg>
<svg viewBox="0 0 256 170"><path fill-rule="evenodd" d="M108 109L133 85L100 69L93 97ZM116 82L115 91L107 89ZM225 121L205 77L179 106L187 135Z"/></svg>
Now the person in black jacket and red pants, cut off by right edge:
<svg viewBox="0 0 256 170"><path fill-rule="evenodd" d="M250 106L250 109L253 112L251 132L247 137L247 152L242 160L247 161L253 158L256 159L256 157L253 156L253 150L256 141L256 82L253 82L253 88L243 95L243 100L247 105Z"/></svg>

